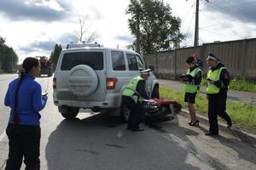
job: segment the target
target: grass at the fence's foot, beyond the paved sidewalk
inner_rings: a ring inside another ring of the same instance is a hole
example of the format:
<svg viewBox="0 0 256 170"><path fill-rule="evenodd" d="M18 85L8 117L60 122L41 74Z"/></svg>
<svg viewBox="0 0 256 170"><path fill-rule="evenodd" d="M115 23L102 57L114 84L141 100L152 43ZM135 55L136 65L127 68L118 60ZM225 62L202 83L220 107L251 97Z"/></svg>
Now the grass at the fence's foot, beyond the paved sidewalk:
<svg viewBox="0 0 256 170"><path fill-rule="evenodd" d="M202 80L202 85L207 85L207 80ZM230 80L230 89L232 90L240 90L246 92L256 92L256 83L248 82L244 77L234 77Z"/></svg>

